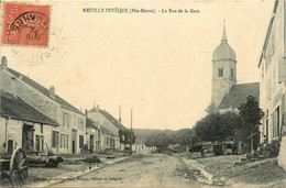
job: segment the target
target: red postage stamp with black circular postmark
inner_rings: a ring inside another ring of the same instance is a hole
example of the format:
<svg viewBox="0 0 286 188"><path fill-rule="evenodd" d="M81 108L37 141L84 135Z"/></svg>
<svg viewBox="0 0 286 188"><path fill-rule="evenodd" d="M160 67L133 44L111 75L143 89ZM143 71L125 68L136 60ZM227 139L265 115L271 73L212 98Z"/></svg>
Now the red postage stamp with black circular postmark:
<svg viewBox="0 0 286 188"><path fill-rule="evenodd" d="M50 5L4 3L2 44L47 46Z"/></svg>

